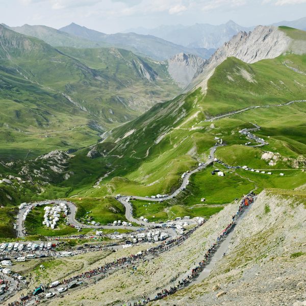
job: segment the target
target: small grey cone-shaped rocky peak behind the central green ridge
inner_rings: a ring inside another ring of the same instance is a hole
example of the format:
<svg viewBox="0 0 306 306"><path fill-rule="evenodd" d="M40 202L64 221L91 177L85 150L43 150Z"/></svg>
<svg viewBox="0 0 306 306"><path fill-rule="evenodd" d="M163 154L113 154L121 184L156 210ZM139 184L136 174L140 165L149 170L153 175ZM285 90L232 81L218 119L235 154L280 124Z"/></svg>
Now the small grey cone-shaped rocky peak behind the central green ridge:
<svg viewBox="0 0 306 306"><path fill-rule="evenodd" d="M193 54L176 54L168 60L168 72L172 79L184 88L191 82L197 69L205 62L206 60Z"/></svg>

